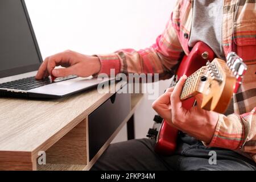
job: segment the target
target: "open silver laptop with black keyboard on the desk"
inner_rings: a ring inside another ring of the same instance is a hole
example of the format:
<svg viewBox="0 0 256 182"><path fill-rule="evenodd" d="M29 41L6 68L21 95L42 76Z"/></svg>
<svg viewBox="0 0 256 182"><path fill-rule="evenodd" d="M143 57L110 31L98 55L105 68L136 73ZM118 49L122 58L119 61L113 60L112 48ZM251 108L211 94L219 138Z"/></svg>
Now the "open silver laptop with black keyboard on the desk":
<svg viewBox="0 0 256 182"><path fill-rule="evenodd" d="M0 27L0 97L61 98L102 82L77 76L35 80L43 60L24 0L0 1Z"/></svg>

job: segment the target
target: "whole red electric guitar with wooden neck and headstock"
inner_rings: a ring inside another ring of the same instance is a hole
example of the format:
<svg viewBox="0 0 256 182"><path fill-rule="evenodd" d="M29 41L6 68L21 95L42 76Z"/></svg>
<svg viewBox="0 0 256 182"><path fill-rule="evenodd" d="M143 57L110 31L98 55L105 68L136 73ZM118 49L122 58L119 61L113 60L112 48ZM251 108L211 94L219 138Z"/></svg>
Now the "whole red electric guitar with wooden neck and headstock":
<svg viewBox="0 0 256 182"><path fill-rule="evenodd" d="M181 61L176 80L183 75L188 76L180 96L185 109L191 109L195 105L194 96L203 93L202 109L225 113L233 93L241 85L242 76L247 70L242 59L234 52L229 53L227 63L214 57L212 49L203 42L198 42ZM178 133L177 129L163 121L155 151L162 155L172 154L176 149Z"/></svg>

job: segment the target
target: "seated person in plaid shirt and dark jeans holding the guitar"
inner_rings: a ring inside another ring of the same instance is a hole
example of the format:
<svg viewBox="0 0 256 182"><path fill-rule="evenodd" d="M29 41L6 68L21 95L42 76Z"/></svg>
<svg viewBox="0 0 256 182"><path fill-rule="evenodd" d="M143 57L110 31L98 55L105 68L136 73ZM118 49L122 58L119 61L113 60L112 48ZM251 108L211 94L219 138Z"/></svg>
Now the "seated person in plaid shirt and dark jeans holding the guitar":
<svg viewBox="0 0 256 182"><path fill-rule="evenodd" d="M187 111L179 96L186 76L152 105L180 131L174 155L154 152L154 140L111 145L93 170L255 170L256 169L256 2L255 0L180 0L166 30L150 48L122 49L110 55L86 56L66 51L44 61L36 78L99 73L159 73L170 78L180 58L202 41L224 59L234 51L248 66L228 116L193 107ZM57 65L67 68L55 69ZM200 96L197 97L200 103ZM201 142L203 141L203 142ZM217 164L209 163L210 151Z"/></svg>

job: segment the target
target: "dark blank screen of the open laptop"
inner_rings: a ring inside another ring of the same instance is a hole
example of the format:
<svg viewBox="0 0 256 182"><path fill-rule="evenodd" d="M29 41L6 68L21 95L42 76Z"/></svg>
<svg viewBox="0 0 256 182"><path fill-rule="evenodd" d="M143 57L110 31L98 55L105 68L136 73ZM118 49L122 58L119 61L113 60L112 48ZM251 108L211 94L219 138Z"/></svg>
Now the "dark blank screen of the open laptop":
<svg viewBox="0 0 256 182"><path fill-rule="evenodd" d="M0 78L36 71L42 61L24 1L0 1Z"/></svg>

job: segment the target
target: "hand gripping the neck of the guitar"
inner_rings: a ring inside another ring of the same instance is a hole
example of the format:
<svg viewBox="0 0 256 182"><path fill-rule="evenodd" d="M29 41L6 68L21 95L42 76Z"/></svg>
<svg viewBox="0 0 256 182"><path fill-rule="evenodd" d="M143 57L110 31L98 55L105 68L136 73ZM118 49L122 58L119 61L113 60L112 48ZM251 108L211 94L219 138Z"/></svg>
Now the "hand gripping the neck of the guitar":
<svg viewBox="0 0 256 182"><path fill-rule="evenodd" d="M170 88L158 98L152 107L166 121L203 142L210 143L218 122L218 113L200 108L202 96L196 96L197 106L190 110L184 109L180 101L180 94L187 76L180 78L175 88Z"/></svg>

